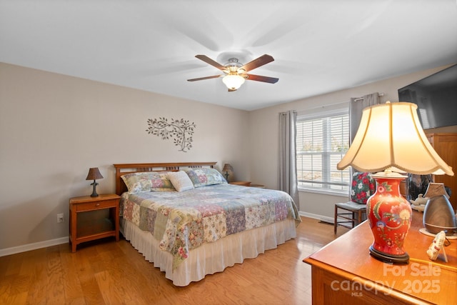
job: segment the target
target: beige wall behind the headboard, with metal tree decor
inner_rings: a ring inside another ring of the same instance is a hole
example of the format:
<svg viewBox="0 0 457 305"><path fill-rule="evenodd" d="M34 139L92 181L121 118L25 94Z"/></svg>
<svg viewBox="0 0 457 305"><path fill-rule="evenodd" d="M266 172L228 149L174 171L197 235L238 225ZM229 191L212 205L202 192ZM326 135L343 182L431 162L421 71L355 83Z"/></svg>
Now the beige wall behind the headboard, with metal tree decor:
<svg viewBox="0 0 457 305"><path fill-rule="evenodd" d="M159 116L194 121L192 149L147 134ZM230 162L248 180L247 128L247 111L0 63L0 255L64 242L69 198L91 194L89 167L104 176L99 194L114 192L114 163Z"/></svg>

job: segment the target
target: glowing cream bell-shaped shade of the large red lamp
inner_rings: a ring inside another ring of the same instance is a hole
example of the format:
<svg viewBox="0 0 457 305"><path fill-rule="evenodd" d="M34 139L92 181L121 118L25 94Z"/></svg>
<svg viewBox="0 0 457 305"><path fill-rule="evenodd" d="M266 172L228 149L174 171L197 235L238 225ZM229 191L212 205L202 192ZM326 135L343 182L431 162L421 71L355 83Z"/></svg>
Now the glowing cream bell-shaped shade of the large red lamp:
<svg viewBox="0 0 457 305"><path fill-rule="evenodd" d="M428 142L417 116L417 105L398 102L363 109L360 126L346 155L336 166L358 171L393 168L411 174L448 174L451 166Z"/></svg>

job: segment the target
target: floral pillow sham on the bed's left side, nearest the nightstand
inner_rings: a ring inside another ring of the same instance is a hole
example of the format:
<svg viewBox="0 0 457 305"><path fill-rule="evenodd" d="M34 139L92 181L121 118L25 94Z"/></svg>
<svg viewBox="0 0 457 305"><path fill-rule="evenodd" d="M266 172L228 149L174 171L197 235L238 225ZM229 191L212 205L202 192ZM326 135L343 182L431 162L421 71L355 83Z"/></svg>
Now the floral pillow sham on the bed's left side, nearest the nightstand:
<svg viewBox="0 0 457 305"><path fill-rule="evenodd" d="M168 171L144 171L121 176L129 194L145 191L174 191L174 186L168 179Z"/></svg>

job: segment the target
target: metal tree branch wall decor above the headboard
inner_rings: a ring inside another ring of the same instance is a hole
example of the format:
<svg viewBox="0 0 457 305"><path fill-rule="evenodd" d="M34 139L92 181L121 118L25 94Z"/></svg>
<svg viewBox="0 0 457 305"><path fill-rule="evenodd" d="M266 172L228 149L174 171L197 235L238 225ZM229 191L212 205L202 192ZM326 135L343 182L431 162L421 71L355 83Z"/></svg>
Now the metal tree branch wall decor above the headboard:
<svg viewBox="0 0 457 305"><path fill-rule="evenodd" d="M160 136L163 140L172 138L176 146L181 146L179 151L187 152L192 147L192 134L196 125L185 119L148 119L148 134Z"/></svg>

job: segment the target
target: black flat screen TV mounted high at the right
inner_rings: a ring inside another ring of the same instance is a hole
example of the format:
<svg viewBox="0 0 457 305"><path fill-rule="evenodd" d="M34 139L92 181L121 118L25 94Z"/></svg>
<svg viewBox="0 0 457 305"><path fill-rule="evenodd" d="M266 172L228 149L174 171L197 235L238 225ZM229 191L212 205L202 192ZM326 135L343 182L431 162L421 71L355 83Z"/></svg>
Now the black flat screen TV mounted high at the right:
<svg viewBox="0 0 457 305"><path fill-rule="evenodd" d="M398 101L417 104L423 129L457 125L457 64L398 89Z"/></svg>

